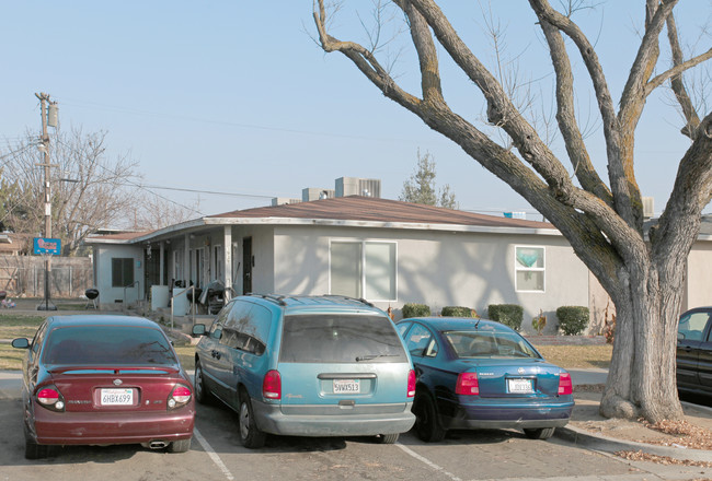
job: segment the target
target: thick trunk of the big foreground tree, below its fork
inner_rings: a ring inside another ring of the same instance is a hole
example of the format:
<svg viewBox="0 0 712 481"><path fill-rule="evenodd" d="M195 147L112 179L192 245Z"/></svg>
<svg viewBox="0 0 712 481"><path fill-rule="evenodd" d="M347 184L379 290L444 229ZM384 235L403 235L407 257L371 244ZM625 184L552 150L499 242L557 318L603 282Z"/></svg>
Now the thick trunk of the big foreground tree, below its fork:
<svg viewBox="0 0 712 481"><path fill-rule="evenodd" d="M661 283L644 261L620 272L613 357L600 403L606 418L679 419L675 378L677 321L684 269Z"/></svg>

